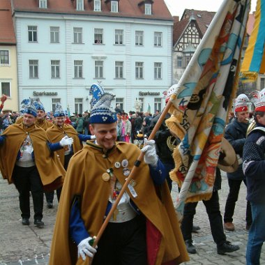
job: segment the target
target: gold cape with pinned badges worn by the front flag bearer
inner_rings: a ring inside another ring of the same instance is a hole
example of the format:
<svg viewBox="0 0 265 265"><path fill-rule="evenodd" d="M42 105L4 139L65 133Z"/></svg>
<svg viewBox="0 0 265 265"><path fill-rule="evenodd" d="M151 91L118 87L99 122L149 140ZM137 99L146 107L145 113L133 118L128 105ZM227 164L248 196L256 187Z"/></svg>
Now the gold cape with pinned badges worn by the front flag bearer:
<svg viewBox="0 0 265 265"><path fill-rule="evenodd" d="M103 173L112 167L114 175L123 185L126 178L123 176L123 167L115 168L114 163L128 160L128 168L132 169L140 152L135 144L118 142L105 158L100 146L87 141L84 149L71 158L56 216L50 265L89 265L89 257L86 257L84 262L81 257L77 259L77 245L69 237L71 203L75 196L81 197L80 211L84 225L91 236L96 236L103 224L109 199L110 184L109 181L103 181ZM149 173L149 166L145 162L141 162L139 174L135 176L134 181L137 197L133 198L127 188L128 195L162 235L155 262L152 264L187 262L188 253L166 181L157 186L160 191L159 198Z"/></svg>

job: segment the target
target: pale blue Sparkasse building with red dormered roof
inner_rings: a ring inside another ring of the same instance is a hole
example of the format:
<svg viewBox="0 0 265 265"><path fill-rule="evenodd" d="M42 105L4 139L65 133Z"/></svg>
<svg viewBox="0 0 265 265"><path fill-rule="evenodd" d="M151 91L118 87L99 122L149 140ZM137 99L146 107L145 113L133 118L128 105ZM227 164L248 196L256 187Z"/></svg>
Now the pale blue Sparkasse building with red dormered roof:
<svg viewBox="0 0 265 265"><path fill-rule="evenodd" d="M173 19L164 1L12 0L19 100L90 109L100 82L126 112L165 106L172 85ZM115 106L113 106L115 107Z"/></svg>

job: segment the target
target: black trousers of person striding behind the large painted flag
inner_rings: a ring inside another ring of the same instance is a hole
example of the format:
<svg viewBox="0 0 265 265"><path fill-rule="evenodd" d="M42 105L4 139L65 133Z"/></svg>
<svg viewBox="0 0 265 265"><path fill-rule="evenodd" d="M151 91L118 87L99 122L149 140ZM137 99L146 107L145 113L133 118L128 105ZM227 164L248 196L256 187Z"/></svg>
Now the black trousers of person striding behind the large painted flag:
<svg viewBox="0 0 265 265"><path fill-rule="evenodd" d="M216 190L213 192L213 195L209 201L202 202L206 207L213 240L217 245L222 245L227 239L222 226L222 215L220 213L218 191ZM189 202L184 206L183 220L181 222L181 232L183 234L184 240L192 239L192 225L197 204L198 202Z"/></svg>

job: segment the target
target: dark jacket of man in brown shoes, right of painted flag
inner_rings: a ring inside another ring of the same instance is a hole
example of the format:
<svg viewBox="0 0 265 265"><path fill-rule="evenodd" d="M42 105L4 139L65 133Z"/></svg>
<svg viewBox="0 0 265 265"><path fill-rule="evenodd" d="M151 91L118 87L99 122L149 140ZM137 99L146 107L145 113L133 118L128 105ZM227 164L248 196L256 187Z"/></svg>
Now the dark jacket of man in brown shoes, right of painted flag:
<svg viewBox="0 0 265 265"><path fill-rule="evenodd" d="M237 119L234 119L225 128L225 139L233 146L234 151L241 158L243 156L243 146L245 144L245 137L248 130L248 123L240 123ZM228 179L243 180L245 176L243 174L242 163L239 165L236 172L227 173Z"/></svg>

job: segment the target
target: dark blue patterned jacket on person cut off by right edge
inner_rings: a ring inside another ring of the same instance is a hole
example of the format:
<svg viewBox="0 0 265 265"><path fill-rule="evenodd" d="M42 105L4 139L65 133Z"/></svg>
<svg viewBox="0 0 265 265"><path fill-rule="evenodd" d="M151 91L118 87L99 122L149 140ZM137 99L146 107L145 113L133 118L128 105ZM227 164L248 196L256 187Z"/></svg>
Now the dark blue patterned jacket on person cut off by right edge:
<svg viewBox="0 0 265 265"><path fill-rule="evenodd" d="M264 125L257 123L257 126ZM265 132L252 130L243 149L243 172L250 202L265 204Z"/></svg>

